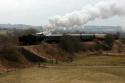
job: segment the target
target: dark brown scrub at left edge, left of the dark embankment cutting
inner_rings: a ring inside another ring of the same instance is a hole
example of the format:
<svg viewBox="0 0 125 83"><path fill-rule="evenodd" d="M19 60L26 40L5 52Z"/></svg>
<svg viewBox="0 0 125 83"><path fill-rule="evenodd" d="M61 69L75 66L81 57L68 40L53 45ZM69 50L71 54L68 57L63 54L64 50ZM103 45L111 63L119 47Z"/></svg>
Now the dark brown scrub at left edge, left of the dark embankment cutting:
<svg viewBox="0 0 125 83"><path fill-rule="evenodd" d="M16 41L10 35L0 36L0 61L7 67L19 67L26 62L16 47Z"/></svg>

